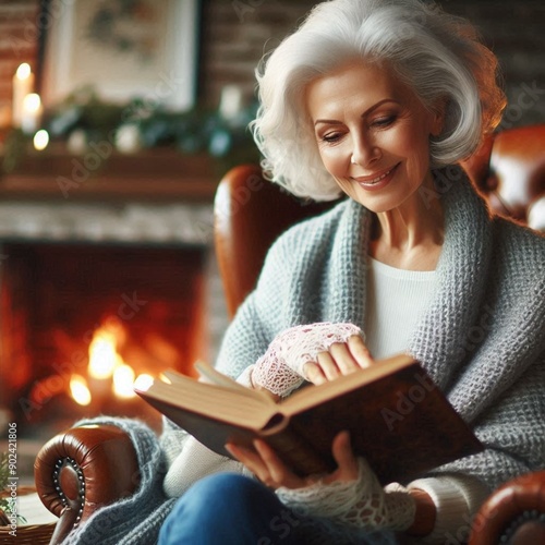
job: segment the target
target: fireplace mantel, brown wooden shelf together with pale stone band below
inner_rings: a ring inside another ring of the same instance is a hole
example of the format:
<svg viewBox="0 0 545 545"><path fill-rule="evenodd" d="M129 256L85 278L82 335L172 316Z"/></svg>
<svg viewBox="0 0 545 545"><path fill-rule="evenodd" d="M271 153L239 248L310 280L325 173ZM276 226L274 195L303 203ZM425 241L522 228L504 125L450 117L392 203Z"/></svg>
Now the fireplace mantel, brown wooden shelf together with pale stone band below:
<svg viewBox="0 0 545 545"><path fill-rule="evenodd" d="M208 156L108 147L32 152L0 177L0 241L204 244L220 167Z"/></svg>

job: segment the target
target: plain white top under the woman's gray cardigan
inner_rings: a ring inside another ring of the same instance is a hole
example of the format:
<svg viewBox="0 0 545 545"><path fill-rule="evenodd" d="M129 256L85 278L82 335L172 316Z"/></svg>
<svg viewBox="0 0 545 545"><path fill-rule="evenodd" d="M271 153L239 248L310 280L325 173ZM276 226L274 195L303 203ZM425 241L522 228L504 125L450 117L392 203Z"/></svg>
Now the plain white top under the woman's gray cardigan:
<svg viewBox="0 0 545 545"><path fill-rule="evenodd" d="M375 360L404 352L428 306L435 270L404 270L368 257L365 343Z"/></svg>

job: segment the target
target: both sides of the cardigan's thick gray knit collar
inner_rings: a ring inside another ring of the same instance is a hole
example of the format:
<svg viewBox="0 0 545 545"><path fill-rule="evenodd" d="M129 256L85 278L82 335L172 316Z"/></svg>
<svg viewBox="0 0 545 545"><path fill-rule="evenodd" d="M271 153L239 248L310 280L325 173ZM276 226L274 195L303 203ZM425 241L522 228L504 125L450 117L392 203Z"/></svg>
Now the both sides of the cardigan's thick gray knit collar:
<svg viewBox="0 0 545 545"><path fill-rule="evenodd" d="M488 211L463 171L449 167L434 172L435 192L421 190L426 202L440 198L445 209L445 241L437 264L437 289L409 346L446 388L463 363L464 337L476 318L492 254ZM367 254L372 214L353 199L344 204L335 240L327 302L331 322L352 322L365 329ZM359 302L359 304L353 304Z"/></svg>

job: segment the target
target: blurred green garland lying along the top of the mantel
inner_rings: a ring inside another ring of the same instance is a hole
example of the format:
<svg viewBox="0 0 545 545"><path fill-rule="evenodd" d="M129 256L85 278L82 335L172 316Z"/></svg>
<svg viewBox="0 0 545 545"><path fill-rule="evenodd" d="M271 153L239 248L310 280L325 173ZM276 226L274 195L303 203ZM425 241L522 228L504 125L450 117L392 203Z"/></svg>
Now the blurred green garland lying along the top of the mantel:
<svg viewBox="0 0 545 545"><path fill-rule="evenodd" d="M69 143L77 133L85 142L112 141L123 128L137 134L140 148L169 146L181 154L208 154L223 169L241 162L257 162L259 152L247 130L257 105L226 120L217 110L194 108L170 111L160 105L134 98L124 105L100 99L93 88L83 87L45 112L41 128L52 142ZM12 172L32 149L33 135L12 130L3 146L4 172Z"/></svg>

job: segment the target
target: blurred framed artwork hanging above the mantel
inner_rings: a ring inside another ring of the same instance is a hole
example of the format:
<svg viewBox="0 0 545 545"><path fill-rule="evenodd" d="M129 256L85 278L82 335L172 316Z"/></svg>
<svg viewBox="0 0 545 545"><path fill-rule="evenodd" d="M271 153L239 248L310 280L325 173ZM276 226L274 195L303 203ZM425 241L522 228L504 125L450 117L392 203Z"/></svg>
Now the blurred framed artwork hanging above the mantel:
<svg viewBox="0 0 545 545"><path fill-rule="evenodd" d="M41 95L46 106L77 89L172 110L195 101L199 0L49 0Z"/></svg>

